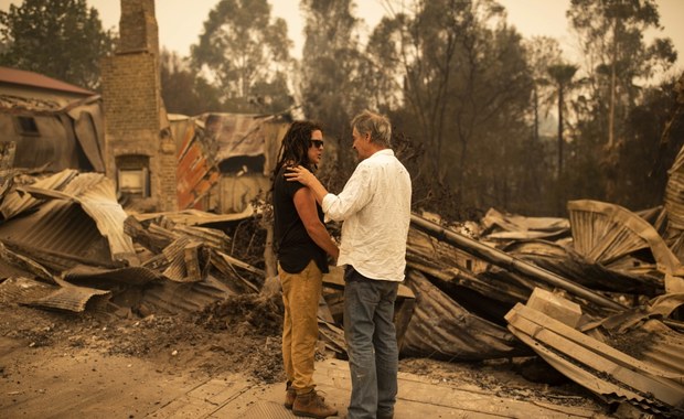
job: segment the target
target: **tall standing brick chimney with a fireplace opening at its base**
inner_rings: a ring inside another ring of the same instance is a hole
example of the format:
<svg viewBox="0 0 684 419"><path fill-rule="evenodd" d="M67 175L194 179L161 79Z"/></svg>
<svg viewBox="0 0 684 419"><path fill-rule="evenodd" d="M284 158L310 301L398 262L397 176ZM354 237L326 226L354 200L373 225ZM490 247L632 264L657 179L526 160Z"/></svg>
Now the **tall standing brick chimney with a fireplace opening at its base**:
<svg viewBox="0 0 684 419"><path fill-rule="evenodd" d="M121 0L120 40L101 62L106 173L127 206L175 211L175 142L161 99L154 0Z"/></svg>

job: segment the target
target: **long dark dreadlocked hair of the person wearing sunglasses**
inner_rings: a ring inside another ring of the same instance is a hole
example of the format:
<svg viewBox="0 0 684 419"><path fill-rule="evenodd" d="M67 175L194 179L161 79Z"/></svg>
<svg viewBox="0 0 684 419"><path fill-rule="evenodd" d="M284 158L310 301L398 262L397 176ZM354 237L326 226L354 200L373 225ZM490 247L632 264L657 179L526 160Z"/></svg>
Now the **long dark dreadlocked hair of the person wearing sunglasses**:
<svg viewBox="0 0 684 419"><path fill-rule="evenodd" d="M316 130L322 131L322 128L319 123L313 121L295 121L290 125L290 128L288 128L280 142L278 162L276 163L271 178L274 185L276 176L284 165L303 165L309 170L317 169L316 165L311 164L309 161L311 132Z"/></svg>

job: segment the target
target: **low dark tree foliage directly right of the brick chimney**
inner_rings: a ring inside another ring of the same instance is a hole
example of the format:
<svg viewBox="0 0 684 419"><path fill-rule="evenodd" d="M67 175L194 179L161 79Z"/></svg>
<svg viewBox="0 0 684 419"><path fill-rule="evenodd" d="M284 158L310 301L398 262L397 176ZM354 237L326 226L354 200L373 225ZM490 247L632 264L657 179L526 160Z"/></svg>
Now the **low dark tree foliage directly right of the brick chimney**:
<svg viewBox="0 0 684 419"><path fill-rule="evenodd" d="M162 50L161 97L170 114L195 116L223 110L220 93L175 53Z"/></svg>

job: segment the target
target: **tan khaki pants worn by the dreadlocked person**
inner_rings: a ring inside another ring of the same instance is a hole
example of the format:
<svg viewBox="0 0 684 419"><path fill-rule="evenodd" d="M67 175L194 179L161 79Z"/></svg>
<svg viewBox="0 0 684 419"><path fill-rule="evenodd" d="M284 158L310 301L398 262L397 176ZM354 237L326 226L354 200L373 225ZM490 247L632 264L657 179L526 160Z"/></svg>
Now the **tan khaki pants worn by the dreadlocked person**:
<svg viewBox="0 0 684 419"><path fill-rule="evenodd" d="M313 260L299 273L288 273L278 266L282 284L285 319L282 361L288 382L297 394L313 389L313 359L318 340L318 302L323 273Z"/></svg>

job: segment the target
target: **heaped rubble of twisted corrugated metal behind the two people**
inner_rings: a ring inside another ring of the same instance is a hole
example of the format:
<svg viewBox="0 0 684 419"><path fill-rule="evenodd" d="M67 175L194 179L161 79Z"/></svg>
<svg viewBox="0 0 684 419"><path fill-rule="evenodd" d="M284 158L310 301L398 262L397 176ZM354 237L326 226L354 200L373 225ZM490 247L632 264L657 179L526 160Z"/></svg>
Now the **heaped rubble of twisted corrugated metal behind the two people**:
<svg viewBox="0 0 684 419"><path fill-rule="evenodd" d="M235 119L216 118L228 126ZM200 122L177 127L185 132L179 162L190 164L212 147ZM243 122L238 131L256 143L281 128L258 118ZM231 138L241 147L252 143ZM264 158L261 151L256 155ZM213 205L207 191L223 171L216 161L205 163L181 187L188 208L162 213L125 210L113 181L100 173L29 175L4 168L0 301L141 319L200 313L206 327L274 334L281 307L277 278L268 273L274 269L265 205L247 204L250 191L231 206L238 213L190 208ZM673 183L680 169L673 168ZM264 183L266 172L258 174ZM229 172L225 179L239 176ZM395 310L400 356L536 356L606 404L684 415L681 194L669 185L665 205L641 213L571 201L568 218L491 208L480 221L453 225L436 214L413 214ZM331 269L323 281L321 351L344 357L341 270ZM220 320L237 312L239 323Z"/></svg>

